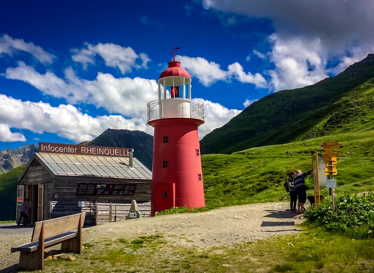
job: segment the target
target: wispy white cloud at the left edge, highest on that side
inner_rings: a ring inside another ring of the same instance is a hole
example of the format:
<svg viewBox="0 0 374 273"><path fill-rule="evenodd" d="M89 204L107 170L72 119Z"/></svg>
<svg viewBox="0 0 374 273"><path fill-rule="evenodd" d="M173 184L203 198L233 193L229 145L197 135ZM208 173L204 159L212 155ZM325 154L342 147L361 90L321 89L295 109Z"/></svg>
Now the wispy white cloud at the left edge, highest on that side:
<svg viewBox="0 0 374 273"><path fill-rule="evenodd" d="M34 43L26 43L23 39L13 39L7 34L0 36L0 54L13 56L17 51L30 53L43 64L52 64L56 56L44 51L43 48L35 46ZM0 55L1 56L1 55Z"/></svg>

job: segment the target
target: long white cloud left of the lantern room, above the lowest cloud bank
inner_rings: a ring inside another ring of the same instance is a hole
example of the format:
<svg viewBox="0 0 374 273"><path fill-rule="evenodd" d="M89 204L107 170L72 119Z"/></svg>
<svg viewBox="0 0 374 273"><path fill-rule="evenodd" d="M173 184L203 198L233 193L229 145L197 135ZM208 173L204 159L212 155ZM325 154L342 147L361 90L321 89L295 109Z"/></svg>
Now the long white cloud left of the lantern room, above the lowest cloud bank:
<svg viewBox="0 0 374 273"><path fill-rule="evenodd" d="M65 80L51 72L40 74L33 67L20 62L18 67L7 68L6 78L23 80L43 94L65 98L70 104L92 104L110 113L120 113L135 118L147 115L146 105L157 99L158 84L142 78L115 78L98 73L95 80L83 80L71 67L65 70Z"/></svg>

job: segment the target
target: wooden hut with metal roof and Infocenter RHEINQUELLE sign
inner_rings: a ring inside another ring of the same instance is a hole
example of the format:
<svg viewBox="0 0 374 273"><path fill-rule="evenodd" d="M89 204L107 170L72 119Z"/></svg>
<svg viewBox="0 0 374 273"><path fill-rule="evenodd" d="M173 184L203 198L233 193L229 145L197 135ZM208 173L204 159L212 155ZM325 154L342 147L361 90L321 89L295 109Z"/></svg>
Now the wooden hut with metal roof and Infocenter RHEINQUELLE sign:
<svg viewBox="0 0 374 273"><path fill-rule="evenodd" d="M17 215L29 199L29 224L85 212L85 225L119 221L136 200L142 217L151 210L152 172L132 149L39 143L18 178Z"/></svg>

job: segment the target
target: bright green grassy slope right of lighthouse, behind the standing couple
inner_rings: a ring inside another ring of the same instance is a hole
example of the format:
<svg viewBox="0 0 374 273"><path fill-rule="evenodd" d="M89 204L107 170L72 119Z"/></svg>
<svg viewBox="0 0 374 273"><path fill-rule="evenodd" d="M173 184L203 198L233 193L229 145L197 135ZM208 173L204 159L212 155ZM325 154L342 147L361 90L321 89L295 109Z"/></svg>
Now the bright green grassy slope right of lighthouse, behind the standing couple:
<svg viewBox="0 0 374 273"><path fill-rule="evenodd" d="M311 151L326 141L340 142L337 194L374 191L374 130L343 133L284 145L255 147L232 155L203 155L205 202L209 208L279 201L288 197L283 182L292 170L311 169ZM287 156L286 151L292 151ZM307 177L313 194L312 177ZM321 189L328 195L325 188Z"/></svg>

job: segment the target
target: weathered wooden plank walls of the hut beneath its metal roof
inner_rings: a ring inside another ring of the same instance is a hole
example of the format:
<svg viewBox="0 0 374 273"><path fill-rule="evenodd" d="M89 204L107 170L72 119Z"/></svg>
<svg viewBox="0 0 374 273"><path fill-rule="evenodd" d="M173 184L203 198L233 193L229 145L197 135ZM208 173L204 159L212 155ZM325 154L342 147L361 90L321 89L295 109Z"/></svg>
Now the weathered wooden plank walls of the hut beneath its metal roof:
<svg viewBox="0 0 374 273"><path fill-rule="evenodd" d="M151 214L151 180L118 179L110 177L56 177L34 160L19 184L44 183L44 220L86 212L85 225L97 225L124 219L129 213L132 200L136 200L142 217ZM89 184L136 184L134 195L77 195L80 183ZM84 203L79 203L84 201ZM79 207L81 204L82 207Z"/></svg>

